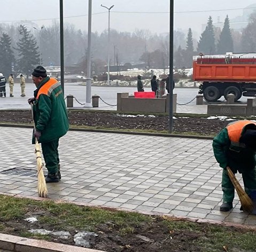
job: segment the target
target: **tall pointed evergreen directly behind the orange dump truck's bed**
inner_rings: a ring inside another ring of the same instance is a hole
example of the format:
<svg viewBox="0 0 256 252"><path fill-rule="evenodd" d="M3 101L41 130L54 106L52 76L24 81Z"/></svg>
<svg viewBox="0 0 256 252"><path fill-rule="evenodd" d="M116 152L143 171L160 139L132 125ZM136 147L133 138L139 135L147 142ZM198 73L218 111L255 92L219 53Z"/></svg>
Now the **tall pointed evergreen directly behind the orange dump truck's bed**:
<svg viewBox="0 0 256 252"><path fill-rule="evenodd" d="M220 34L220 40L218 44L218 53L224 54L226 52L232 52L234 50L233 39L231 36L229 18L228 15L224 21L224 26Z"/></svg>

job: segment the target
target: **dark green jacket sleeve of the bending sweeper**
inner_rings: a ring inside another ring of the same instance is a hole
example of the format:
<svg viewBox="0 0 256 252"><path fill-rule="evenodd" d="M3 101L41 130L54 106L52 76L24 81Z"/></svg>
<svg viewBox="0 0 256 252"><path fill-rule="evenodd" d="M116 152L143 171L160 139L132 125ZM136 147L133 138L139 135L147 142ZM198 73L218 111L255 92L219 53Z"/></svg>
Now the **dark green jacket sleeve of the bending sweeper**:
<svg viewBox="0 0 256 252"><path fill-rule="evenodd" d="M228 166L228 159L226 150L230 147L230 140L228 136L228 130L224 128L220 133L213 139L213 152L216 161L220 164L221 168Z"/></svg>

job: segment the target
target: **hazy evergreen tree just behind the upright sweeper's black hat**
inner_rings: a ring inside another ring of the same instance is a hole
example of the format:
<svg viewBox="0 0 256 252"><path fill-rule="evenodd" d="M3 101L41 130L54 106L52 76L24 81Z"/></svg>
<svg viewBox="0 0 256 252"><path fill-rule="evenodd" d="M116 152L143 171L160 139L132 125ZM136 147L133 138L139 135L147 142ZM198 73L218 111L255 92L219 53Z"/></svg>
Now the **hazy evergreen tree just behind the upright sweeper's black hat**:
<svg viewBox="0 0 256 252"><path fill-rule="evenodd" d="M38 52L38 46L35 37L30 34L27 27L20 25L19 34L21 38L17 42L18 51L17 65L20 73L31 74L33 68L40 64L40 53Z"/></svg>

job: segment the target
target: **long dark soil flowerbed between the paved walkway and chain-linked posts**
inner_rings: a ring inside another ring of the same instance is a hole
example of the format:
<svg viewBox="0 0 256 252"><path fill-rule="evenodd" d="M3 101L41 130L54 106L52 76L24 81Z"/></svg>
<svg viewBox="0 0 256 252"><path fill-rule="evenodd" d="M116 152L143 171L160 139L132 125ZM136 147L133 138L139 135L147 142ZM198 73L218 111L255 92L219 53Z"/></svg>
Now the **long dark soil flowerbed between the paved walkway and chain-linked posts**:
<svg viewBox="0 0 256 252"><path fill-rule="evenodd" d="M142 113L140 113L142 115ZM69 123L77 126L168 131L169 116L123 116L117 113L68 111ZM32 123L30 111L1 111L0 123ZM230 121L175 117L173 132L216 135Z"/></svg>

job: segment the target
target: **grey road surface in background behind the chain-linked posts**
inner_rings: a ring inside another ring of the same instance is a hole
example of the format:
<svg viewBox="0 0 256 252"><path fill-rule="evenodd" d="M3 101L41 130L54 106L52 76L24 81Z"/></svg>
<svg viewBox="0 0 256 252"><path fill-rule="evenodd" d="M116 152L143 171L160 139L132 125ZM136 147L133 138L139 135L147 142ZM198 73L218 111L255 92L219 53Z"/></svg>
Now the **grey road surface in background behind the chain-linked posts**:
<svg viewBox="0 0 256 252"><path fill-rule="evenodd" d="M0 98L0 109L28 109L30 108L27 99L33 96L35 86L33 83L26 84L26 97L20 97L19 84L14 85L14 97L9 97L9 88L6 89L7 97ZM146 88L146 91L151 91L150 88ZM117 86L92 86L91 94L98 94L100 98L106 101L107 104L117 105L117 93L129 92L133 94L136 91L135 87L117 87ZM194 88L177 88L177 102L184 104L192 100L197 95L197 89ZM86 86L81 83L66 83L65 84L65 96L72 94L74 99L74 107L86 108L86 109L108 109L117 110L117 106L110 106L105 104L102 100L99 100L99 107L92 108L91 105L86 104ZM196 100L188 105L177 105L177 113L207 113L207 105L196 105Z"/></svg>

